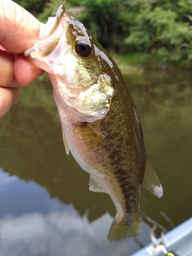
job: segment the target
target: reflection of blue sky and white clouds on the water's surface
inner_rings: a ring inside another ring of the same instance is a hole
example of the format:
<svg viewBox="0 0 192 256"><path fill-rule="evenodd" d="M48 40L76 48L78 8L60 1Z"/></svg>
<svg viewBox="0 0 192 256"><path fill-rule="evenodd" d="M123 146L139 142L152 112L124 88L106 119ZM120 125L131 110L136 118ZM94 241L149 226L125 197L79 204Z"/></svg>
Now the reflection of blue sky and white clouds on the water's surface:
<svg viewBox="0 0 192 256"><path fill-rule="evenodd" d="M72 204L50 199L46 189L35 182L26 183L2 170L0 177L1 198L6 199L1 201L5 207L1 207L0 222L2 256L127 255L140 248L133 239L108 244L113 220L109 213L90 223L87 213L81 217ZM148 231L143 223L141 244L149 241Z"/></svg>

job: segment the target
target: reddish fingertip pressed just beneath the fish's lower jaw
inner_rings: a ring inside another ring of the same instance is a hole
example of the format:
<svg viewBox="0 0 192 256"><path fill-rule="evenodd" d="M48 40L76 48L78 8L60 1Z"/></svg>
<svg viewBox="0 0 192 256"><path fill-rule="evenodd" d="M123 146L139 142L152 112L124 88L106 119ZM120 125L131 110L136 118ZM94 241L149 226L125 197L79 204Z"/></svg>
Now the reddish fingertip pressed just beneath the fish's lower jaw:
<svg viewBox="0 0 192 256"><path fill-rule="evenodd" d="M16 80L21 86L28 86L45 71L39 69L24 55L17 54L14 58L13 70Z"/></svg>

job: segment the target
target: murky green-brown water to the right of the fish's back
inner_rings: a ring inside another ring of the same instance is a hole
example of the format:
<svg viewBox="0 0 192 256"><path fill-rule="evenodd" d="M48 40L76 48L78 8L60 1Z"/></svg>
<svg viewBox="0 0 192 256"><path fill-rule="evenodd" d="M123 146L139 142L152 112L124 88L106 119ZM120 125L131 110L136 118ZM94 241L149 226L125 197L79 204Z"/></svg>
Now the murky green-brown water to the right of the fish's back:
<svg viewBox="0 0 192 256"><path fill-rule="evenodd" d="M126 79L140 114L147 153L164 190L156 200L143 189L141 209L170 230L192 215L192 75L145 71L126 74Z"/></svg>

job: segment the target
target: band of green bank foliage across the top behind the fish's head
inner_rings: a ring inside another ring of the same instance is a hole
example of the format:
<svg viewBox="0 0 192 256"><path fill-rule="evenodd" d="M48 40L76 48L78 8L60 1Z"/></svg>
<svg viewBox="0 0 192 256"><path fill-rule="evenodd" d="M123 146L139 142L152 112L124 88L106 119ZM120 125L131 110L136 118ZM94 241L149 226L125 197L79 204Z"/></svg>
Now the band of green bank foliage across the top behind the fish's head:
<svg viewBox="0 0 192 256"><path fill-rule="evenodd" d="M15 0L41 22L64 4L111 52L150 53L162 61L192 62L192 0ZM40 10L44 8L44 11ZM38 15L37 15L38 14Z"/></svg>

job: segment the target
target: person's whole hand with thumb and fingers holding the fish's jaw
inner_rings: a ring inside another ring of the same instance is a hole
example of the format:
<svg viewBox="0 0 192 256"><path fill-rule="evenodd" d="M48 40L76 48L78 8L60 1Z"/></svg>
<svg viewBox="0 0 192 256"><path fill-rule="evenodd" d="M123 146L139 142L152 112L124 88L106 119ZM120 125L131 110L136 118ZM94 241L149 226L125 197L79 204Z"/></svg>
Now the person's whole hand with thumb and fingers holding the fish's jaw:
<svg viewBox="0 0 192 256"><path fill-rule="evenodd" d="M39 41L44 26L10 0L0 0L0 123L28 86L44 71L22 53Z"/></svg>

